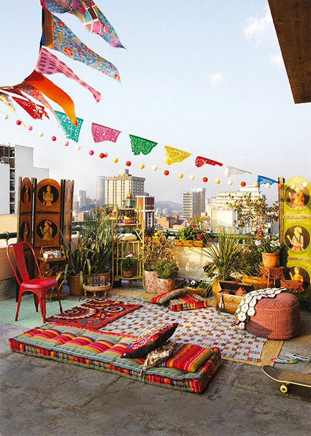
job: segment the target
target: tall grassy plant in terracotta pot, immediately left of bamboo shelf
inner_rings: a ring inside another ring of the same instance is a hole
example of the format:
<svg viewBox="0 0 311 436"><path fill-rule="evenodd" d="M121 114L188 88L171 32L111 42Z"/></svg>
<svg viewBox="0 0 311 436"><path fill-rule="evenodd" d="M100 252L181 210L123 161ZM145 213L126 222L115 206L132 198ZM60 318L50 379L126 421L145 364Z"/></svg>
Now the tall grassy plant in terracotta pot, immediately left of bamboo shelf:
<svg viewBox="0 0 311 436"><path fill-rule="evenodd" d="M91 258L93 281L110 282L111 270L111 222L104 210L95 209L92 217L86 217L81 232L84 246L94 255Z"/></svg>

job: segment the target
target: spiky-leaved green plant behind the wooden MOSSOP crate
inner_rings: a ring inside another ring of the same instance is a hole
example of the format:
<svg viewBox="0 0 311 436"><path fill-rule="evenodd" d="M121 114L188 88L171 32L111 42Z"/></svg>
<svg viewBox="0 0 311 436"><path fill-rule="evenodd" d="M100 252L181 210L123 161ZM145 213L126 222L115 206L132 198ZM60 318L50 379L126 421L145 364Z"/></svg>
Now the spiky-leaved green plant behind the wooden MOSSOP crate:
<svg viewBox="0 0 311 436"><path fill-rule="evenodd" d="M217 235L217 244L211 243L205 249L207 262L203 269L211 279L210 288L214 295L221 290L220 281L236 281L241 273L239 257L242 253L240 236L220 233Z"/></svg>

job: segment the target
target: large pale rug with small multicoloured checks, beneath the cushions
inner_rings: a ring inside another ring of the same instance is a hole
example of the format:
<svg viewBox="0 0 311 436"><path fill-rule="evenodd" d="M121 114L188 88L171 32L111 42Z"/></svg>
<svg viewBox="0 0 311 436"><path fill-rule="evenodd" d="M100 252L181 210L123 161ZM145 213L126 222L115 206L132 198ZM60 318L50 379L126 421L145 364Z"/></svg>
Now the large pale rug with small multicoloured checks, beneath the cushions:
<svg viewBox="0 0 311 436"><path fill-rule="evenodd" d="M262 349L267 339L253 336L247 331L234 327L234 315L217 312L213 307L173 312L165 306L145 303L140 298L124 295L121 298L126 302L139 302L142 307L135 313L129 313L126 317L114 321L105 327L104 331L140 335L151 327L177 322L179 325L173 339L179 342L191 342L203 347L219 346L222 350L222 357L228 360L251 364L261 362ZM279 343L275 350L271 350L272 353L276 353L271 355L276 356L282 341L273 342ZM269 360L265 363L269 363Z"/></svg>

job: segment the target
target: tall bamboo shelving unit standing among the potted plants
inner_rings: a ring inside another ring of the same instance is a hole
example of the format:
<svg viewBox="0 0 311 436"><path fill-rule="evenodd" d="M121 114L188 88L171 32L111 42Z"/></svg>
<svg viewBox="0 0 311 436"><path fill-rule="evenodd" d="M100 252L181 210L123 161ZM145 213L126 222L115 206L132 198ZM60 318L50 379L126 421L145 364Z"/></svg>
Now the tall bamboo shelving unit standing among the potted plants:
<svg viewBox="0 0 311 436"><path fill-rule="evenodd" d="M132 220L124 219L125 216L132 215ZM125 221L125 222L124 222ZM134 234L137 239L124 240L124 234ZM122 207L115 209L115 218L111 221L112 238L112 268L111 268L111 287L114 281L128 280L129 286L133 286L133 280L141 279L144 284L144 266L141 251L144 245L145 226L140 209L134 207ZM133 253L136 260L135 272L133 277L124 277L123 260L126 255Z"/></svg>

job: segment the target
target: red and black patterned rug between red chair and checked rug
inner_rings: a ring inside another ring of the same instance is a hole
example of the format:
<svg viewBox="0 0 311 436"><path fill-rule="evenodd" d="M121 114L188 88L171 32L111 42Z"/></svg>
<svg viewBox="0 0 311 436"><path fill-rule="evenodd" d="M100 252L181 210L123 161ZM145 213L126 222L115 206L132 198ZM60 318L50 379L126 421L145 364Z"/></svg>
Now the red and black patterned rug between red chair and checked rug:
<svg viewBox="0 0 311 436"><path fill-rule="evenodd" d="M86 301L81 306L65 310L46 319L48 323L74 327L89 327L96 330L141 307L139 304L125 304L119 300Z"/></svg>

